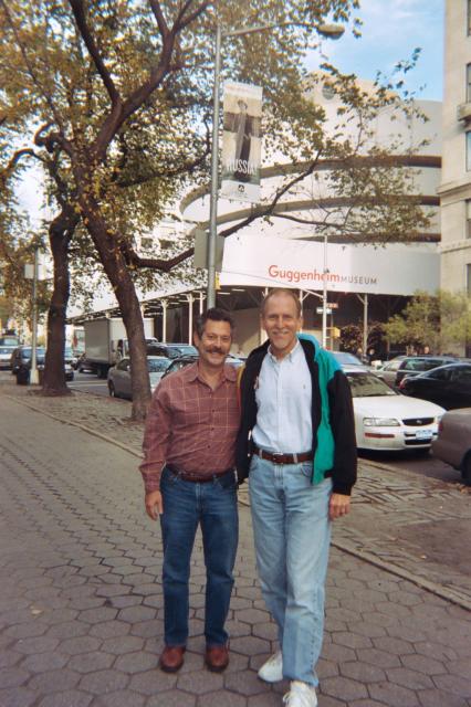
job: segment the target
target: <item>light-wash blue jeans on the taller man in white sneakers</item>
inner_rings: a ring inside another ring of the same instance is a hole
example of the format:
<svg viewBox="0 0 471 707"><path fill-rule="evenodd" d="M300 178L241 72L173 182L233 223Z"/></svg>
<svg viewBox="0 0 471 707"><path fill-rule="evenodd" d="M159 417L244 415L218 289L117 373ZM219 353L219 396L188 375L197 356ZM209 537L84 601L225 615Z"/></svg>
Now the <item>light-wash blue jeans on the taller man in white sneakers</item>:
<svg viewBox="0 0 471 707"><path fill-rule="evenodd" d="M283 675L316 686L324 632L332 479L311 484L312 462L272 464L254 455L249 488L262 593L279 629Z"/></svg>

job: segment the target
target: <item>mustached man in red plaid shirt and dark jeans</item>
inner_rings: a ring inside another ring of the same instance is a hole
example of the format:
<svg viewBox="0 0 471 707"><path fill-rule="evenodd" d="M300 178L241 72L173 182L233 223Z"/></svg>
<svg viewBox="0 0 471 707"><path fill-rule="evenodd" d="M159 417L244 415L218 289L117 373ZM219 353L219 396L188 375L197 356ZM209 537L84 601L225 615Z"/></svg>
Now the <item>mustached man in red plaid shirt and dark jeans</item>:
<svg viewBox="0 0 471 707"><path fill-rule="evenodd" d="M226 363L233 323L212 308L197 320L199 360L165 377L154 392L144 435L140 472L146 511L160 517L164 541L165 647L161 669L184 664L188 639L188 581L198 524L207 568L206 664L229 663L224 622L238 542L236 436L237 373Z"/></svg>

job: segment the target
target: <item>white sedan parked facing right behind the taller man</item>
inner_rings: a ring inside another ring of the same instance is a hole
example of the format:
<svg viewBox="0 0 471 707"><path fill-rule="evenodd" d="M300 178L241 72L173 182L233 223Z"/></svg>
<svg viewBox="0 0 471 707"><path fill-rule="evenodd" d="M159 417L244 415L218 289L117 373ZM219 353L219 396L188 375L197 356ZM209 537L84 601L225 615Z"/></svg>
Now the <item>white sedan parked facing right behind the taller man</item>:
<svg viewBox="0 0 471 707"><path fill-rule="evenodd" d="M344 367L352 389L360 450L429 450L443 408L391 390L369 371Z"/></svg>

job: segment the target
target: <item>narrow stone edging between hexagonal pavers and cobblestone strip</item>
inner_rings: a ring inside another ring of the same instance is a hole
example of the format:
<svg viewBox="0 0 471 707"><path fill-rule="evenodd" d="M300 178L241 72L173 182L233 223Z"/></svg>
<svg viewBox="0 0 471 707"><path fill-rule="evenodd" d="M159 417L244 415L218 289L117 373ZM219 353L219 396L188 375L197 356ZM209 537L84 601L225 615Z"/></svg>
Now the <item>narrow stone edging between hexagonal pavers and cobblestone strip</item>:
<svg viewBox="0 0 471 707"><path fill-rule="evenodd" d="M8 393L4 397L8 398L9 400L20 402L20 404L23 404L25 408L29 408L34 412L39 412L40 414L43 414L46 418L51 418L51 420L55 420L56 422L61 422L62 424L69 424L73 428L78 428L78 430L82 430L83 432L86 432L87 434L91 434L92 436L95 436L98 440L103 440L103 442L107 442L108 444L114 444L115 446L118 446L119 449L127 452L128 454L132 454L133 456L139 460L142 458L142 454L133 450L133 447L129 447L126 444L123 444L122 442L118 442L117 440L114 440L113 437L107 436L106 434L96 432L96 430L92 430L92 428L88 428L85 424L57 418L57 415L54 415L51 412L45 412L44 410L36 408L34 404L31 404L29 401L27 402L24 398L17 398L15 395L10 395ZM374 463L374 465L379 468L388 469L390 472L396 471L394 467L387 466L386 464ZM402 471L407 471L407 469L402 469ZM250 504L247 500L239 499L239 504L245 507L250 507ZM449 601L452 604L456 604L458 606L461 606L462 609L467 609L468 611L471 611L471 600L460 594L453 589L444 589L440 584L436 584L435 582L430 582L429 580L422 577L412 574L412 572L409 572L408 570L405 570L396 564L391 564L390 562L380 560L371 552L364 552L362 550L357 550L353 545L348 544L348 541L332 540L332 546L335 547L337 550L346 552L347 555L352 555L357 559L360 559L364 562L367 562L368 564L373 564L374 567L377 567L378 569L389 572L390 574L395 574L396 577L400 577L401 579L412 582L414 584L416 584L417 587L420 587L425 591L431 594L435 594L437 597L440 597L441 599L444 599L446 601Z"/></svg>

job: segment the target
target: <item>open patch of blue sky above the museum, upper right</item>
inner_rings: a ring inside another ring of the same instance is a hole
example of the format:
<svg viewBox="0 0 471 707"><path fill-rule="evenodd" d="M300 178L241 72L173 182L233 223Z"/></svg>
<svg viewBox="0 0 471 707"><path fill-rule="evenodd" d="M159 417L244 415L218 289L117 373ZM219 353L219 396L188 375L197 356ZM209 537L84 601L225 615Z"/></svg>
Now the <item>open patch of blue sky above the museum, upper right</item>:
<svg viewBox="0 0 471 707"><path fill-rule="evenodd" d="M323 52L343 73L375 78L389 75L398 61L408 60L421 49L414 71L406 74L407 88L417 97L442 99L444 0L360 0L356 17L363 20L362 36L350 30L338 41L323 40ZM318 52L308 67L318 65Z"/></svg>

